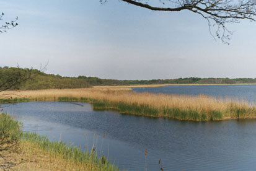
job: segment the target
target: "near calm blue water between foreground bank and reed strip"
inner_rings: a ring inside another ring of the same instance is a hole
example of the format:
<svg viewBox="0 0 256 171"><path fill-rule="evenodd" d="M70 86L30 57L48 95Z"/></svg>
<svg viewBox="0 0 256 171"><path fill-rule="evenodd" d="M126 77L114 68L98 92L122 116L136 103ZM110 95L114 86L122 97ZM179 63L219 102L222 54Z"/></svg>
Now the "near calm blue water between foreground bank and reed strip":
<svg viewBox="0 0 256 171"><path fill-rule="evenodd" d="M159 159L164 170L256 169L256 120L156 119L94 111L89 103L80 102L27 102L3 107L24 123L25 131L82 147L94 142L121 169L144 170L144 149L148 151L148 170L160 170Z"/></svg>

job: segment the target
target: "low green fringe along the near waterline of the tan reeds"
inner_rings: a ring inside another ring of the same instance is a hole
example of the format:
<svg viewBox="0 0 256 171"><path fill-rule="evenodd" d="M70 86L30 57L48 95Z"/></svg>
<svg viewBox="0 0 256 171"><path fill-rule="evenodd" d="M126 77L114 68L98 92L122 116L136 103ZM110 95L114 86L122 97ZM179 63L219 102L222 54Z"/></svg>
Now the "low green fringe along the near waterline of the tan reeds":
<svg viewBox="0 0 256 171"><path fill-rule="evenodd" d="M25 102L84 102L84 103L90 103L92 104L93 110L106 110L106 111L113 111L113 112L119 112L120 114L123 115L135 115L135 116L145 116L145 117L150 117L150 118L165 118L165 119L170 119L170 120L180 120L180 121L222 121L222 120L254 120L256 119L256 114L254 116L232 116L232 117L223 117L221 116L222 113L218 111L213 111L211 113L210 118L206 118L206 116L199 116L200 113L196 111L187 111L187 113L183 113L179 115L168 115L168 112L166 112L164 115L157 115L158 112L162 112L161 110L156 110L155 108L149 108L148 106L130 106L127 105L126 107L128 108L140 108L139 110L143 110L143 113L138 113L138 112L133 112L133 109L131 111L126 111L122 110L117 107L116 104L114 105L105 105L104 103L109 103L109 102L104 102L103 105L105 107L102 107L102 105L99 105L99 103L102 103L102 100L97 101L95 99L87 99L81 97L82 100L76 99L76 98L69 98L69 97L59 97L58 99L48 99L48 100L43 100L43 99L17 99L17 100L9 100L6 101L5 103L0 103L1 104L6 104L6 103L25 103ZM84 100L86 99L86 100ZM1 101L2 99L0 99ZM122 104L123 105L123 104ZM148 113L144 113L146 112ZM179 108L169 108L166 110L178 110L179 113L182 113L183 111L180 111ZM190 115L190 116L188 116ZM199 117L199 118L198 118Z"/></svg>

